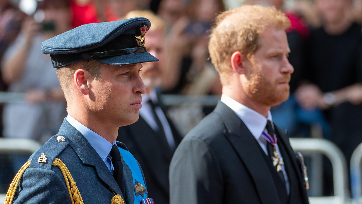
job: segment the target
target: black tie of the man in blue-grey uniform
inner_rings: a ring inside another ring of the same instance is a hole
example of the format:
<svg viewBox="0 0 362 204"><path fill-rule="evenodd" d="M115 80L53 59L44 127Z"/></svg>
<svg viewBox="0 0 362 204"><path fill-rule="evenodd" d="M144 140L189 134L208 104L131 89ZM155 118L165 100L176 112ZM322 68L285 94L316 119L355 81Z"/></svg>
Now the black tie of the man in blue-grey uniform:
<svg viewBox="0 0 362 204"><path fill-rule="evenodd" d="M112 146L109 155L111 155L111 160L114 167L113 177L117 182L119 188L121 189L123 197L125 197L126 194L125 194L125 185L123 183L123 164L122 164L121 153L119 153L117 145Z"/></svg>

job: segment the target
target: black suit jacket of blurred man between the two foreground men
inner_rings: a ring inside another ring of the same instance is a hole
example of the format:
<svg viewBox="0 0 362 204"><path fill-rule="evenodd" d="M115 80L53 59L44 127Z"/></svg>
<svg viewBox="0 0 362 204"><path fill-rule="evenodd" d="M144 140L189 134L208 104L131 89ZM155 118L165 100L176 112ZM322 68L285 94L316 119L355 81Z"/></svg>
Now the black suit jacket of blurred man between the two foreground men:
<svg viewBox="0 0 362 204"><path fill-rule="evenodd" d="M159 99L171 127L175 146L181 142L181 135L167 116L167 109ZM156 204L169 203L168 171L174 150L171 150L165 136L157 134L140 116L134 124L120 127L117 141L122 141L142 166L146 179L148 197Z"/></svg>

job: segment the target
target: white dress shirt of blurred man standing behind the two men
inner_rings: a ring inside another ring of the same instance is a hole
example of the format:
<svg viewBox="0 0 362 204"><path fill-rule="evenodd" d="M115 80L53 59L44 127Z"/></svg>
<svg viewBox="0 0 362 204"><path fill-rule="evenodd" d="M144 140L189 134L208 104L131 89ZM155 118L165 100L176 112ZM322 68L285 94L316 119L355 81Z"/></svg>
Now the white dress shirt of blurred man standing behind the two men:
<svg viewBox="0 0 362 204"><path fill-rule="evenodd" d="M155 132L159 130L155 118L153 118L152 114L152 107L150 104L148 104L148 100L152 100L153 103L158 103L157 95L155 91L151 91L149 94L145 93L142 95L142 108L139 110L139 115L148 123L148 125L151 126ZM163 131L166 135L166 140L168 142L168 145L171 149L175 149L175 141L173 139L173 134L170 125L168 124L167 118L164 114L164 112L161 110L160 107L156 107L155 110L158 118L161 121L161 124L163 126Z"/></svg>

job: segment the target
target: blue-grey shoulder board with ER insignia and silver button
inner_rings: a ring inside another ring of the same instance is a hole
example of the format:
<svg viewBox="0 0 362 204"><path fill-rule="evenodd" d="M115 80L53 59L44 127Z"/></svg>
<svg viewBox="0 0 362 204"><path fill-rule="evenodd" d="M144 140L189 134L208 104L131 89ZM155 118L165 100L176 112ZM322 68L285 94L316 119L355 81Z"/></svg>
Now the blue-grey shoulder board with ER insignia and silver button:
<svg viewBox="0 0 362 204"><path fill-rule="evenodd" d="M31 155L29 168L51 169L56 157L68 146L69 141L65 136L55 135L51 137L42 147Z"/></svg>

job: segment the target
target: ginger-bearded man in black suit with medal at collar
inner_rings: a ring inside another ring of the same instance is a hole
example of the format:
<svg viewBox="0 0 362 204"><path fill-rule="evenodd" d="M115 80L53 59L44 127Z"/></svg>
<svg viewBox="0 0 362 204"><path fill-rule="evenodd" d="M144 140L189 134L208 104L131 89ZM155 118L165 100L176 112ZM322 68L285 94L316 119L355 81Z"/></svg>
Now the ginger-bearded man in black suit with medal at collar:
<svg viewBox="0 0 362 204"><path fill-rule="evenodd" d="M173 155L172 204L308 204L296 156L269 111L289 97L289 25L258 5L217 17L209 52L223 95Z"/></svg>

